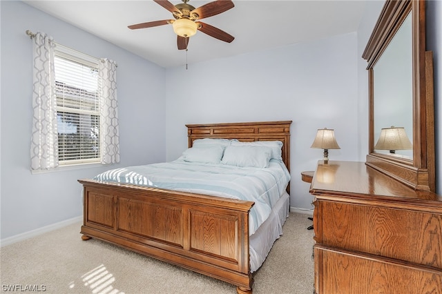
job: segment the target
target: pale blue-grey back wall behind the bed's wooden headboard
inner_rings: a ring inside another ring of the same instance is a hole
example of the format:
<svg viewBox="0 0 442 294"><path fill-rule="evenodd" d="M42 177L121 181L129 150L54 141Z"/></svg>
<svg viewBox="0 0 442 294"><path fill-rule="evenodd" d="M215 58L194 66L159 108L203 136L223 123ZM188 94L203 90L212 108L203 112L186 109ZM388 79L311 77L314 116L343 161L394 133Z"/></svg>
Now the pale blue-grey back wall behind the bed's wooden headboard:
<svg viewBox="0 0 442 294"><path fill-rule="evenodd" d="M334 128L340 150L358 153L356 33L166 70L167 159L187 147L184 124L292 120L291 206L311 209L302 170L314 170L323 150L310 148L318 128ZM190 52L190 51L189 51Z"/></svg>

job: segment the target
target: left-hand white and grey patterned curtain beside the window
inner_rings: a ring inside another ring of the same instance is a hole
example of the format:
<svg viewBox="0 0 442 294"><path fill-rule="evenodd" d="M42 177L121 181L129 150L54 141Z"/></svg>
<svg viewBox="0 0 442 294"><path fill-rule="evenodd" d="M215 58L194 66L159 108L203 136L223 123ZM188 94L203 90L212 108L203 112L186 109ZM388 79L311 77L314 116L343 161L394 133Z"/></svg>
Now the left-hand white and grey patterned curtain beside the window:
<svg viewBox="0 0 442 294"><path fill-rule="evenodd" d="M32 36L32 170L47 170L58 166L54 47L52 37L41 32Z"/></svg>

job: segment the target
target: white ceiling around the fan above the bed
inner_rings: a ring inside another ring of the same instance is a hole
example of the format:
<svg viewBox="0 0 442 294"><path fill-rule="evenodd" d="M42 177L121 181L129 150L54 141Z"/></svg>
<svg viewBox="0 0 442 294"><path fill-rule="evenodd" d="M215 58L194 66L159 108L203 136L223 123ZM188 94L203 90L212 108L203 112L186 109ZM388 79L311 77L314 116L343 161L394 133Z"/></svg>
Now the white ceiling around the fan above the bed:
<svg viewBox="0 0 442 294"><path fill-rule="evenodd" d="M181 0L170 0L174 5ZM130 30L127 26L172 19L150 0L138 1L23 1L86 32L105 39L164 68L186 64L177 50L171 25ZM191 0L198 8L211 1ZM235 37L225 43L202 32L191 37L188 63L241 55L348 32L356 32L365 0L233 0L235 7L202 21ZM50 34L50 32L48 32Z"/></svg>

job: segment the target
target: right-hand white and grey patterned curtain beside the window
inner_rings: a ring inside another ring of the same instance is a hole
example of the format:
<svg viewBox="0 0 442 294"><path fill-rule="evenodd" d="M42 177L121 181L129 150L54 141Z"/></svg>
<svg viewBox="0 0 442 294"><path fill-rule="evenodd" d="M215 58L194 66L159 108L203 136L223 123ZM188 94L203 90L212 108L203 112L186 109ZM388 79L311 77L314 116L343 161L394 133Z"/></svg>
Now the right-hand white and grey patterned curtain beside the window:
<svg viewBox="0 0 442 294"><path fill-rule="evenodd" d="M102 164L115 164L119 162L117 63L101 59L98 70Z"/></svg>

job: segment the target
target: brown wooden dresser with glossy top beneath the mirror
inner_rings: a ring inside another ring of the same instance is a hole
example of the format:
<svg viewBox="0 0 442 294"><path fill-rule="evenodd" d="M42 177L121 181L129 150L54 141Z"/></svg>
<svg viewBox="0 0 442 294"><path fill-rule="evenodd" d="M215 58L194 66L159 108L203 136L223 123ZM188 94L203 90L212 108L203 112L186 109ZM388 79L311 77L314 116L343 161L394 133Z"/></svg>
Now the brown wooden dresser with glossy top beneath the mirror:
<svg viewBox="0 0 442 294"><path fill-rule="evenodd" d="M354 161L319 161L310 193L316 293L442 293L441 196Z"/></svg>

